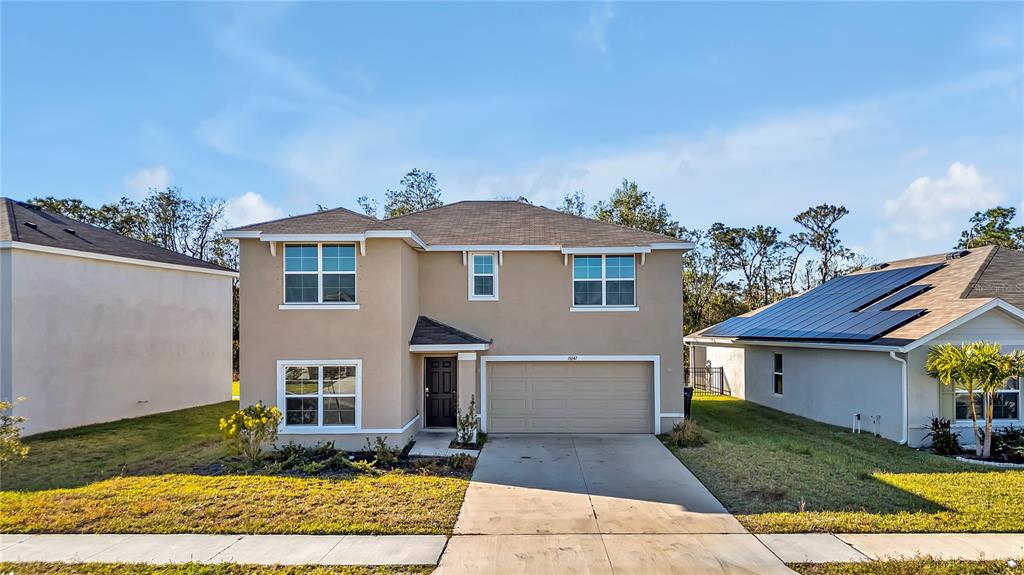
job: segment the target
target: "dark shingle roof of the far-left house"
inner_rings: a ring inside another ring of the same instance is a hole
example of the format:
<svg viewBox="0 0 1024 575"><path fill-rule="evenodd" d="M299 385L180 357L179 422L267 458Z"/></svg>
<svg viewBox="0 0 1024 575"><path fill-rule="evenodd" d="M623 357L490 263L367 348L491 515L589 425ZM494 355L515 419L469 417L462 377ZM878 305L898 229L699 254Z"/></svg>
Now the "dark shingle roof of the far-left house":
<svg viewBox="0 0 1024 575"><path fill-rule="evenodd" d="M69 229L74 233L67 231ZM234 271L9 197L0 197L0 240L22 241L164 264Z"/></svg>

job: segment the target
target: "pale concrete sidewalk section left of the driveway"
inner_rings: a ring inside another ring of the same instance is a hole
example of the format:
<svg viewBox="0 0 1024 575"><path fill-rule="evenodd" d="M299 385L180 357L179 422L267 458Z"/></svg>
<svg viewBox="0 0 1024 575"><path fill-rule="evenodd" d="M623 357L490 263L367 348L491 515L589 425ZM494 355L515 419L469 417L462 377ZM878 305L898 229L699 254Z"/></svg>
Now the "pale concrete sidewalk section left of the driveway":
<svg viewBox="0 0 1024 575"><path fill-rule="evenodd" d="M436 565L444 535L0 535L0 561Z"/></svg>

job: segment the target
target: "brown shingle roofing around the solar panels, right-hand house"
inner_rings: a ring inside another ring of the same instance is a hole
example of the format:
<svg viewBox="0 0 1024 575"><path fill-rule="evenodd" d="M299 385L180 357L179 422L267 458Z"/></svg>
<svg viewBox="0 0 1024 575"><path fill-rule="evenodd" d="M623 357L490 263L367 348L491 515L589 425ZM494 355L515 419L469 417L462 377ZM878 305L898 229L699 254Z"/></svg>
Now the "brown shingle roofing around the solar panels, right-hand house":
<svg viewBox="0 0 1024 575"><path fill-rule="evenodd" d="M871 345L904 346L946 325L998 298L1016 307L1024 306L1024 253L986 246L969 250L961 258L946 260L935 254L889 262L885 270L926 264L945 264L942 268L914 281L932 288L893 310L924 309L926 313L883 335ZM869 273L865 269L856 273ZM765 308L743 314L755 315ZM688 337L700 337L706 329Z"/></svg>

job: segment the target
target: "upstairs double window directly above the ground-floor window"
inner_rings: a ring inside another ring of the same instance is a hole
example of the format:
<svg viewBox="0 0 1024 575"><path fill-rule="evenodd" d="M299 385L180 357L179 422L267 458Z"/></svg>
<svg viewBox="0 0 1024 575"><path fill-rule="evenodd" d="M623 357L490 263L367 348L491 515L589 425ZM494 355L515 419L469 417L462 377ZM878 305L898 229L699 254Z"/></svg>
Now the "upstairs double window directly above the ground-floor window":
<svg viewBox="0 0 1024 575"><path fill-rule="evenodd" d="M354 304L355 246L285 245L286 304Z"/></svg>

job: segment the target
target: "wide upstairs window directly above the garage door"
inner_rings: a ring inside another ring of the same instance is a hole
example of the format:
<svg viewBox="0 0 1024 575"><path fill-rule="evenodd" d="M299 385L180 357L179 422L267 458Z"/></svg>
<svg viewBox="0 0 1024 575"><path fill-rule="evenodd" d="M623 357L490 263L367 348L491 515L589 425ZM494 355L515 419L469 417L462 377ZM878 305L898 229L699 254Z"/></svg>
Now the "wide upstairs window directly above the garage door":
<svg viewBox="0 0 1024 575"><path fill-rule="evenodd" d="M635 306L635 257L573 256L572 305L577 307Z"/></svg>

